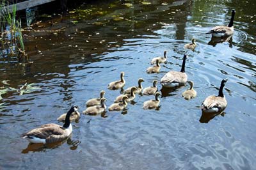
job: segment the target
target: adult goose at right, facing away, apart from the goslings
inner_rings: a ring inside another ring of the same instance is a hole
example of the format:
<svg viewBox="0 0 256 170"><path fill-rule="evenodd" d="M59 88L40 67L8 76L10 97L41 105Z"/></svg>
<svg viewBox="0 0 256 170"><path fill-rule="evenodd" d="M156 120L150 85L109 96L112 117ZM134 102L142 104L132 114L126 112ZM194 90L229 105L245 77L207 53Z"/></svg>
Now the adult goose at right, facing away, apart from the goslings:
<svg viewBox="0 0 256 170"><path fill-rule="evenodd" d="M202 112L210 112L220 114L227 107L227 100L223 95L223 88L228 79L223 79L220 84L218 96L211 95L205 98L201 105Z"/></svg>

